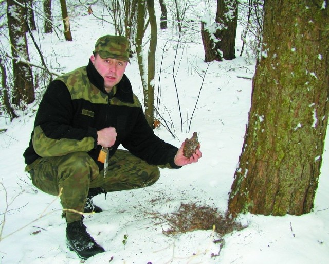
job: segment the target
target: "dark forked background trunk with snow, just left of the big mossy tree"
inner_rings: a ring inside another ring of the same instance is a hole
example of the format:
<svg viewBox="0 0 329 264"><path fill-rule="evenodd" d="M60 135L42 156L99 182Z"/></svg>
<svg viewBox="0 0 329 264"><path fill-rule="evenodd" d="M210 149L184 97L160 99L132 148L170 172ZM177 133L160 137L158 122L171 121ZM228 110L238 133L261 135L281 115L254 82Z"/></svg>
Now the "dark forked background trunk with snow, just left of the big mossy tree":
<svg viewBox="0 0 329 264"><path fill-rule="evenodd" d="M232 60L235 58L237 26L237 1L217 0L217 29L210 32L210 25L202 23L202 39L205 48L205 62Z"/></svg>

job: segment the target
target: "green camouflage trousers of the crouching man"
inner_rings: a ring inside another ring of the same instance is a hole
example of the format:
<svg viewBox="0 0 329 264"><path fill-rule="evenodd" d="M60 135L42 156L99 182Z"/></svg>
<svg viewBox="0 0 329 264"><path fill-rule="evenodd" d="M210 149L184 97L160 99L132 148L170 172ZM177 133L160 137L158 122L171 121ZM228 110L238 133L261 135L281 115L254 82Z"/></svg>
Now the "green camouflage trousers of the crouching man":
<svg viewBox="0 0 329 264"><path fill-rule="evenodd" d="M89 188L130 190L150 186L160 177L157 166L120 149L109 159L105 177L86 152L42 157L28 172L35 187L60 197L67 223L81 219Z"/></svg>

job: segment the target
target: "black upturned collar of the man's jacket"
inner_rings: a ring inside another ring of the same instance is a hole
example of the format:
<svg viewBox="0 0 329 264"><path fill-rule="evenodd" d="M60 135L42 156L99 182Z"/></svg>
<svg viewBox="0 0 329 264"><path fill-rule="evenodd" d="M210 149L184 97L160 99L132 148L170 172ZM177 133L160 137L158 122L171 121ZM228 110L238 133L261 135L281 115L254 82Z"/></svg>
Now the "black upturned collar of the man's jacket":
<svg viewBox="0 0 329 264"><path fill-rule="evenodd" d="M92 61L89 59L87 65L87 76L89 81L94 84L100 91L107 93L104 87L104 78L97 72ZM117 84L117 92L114 95L119 100L133 103L133 89L128 77L124 74L121 81Z"/></svg>

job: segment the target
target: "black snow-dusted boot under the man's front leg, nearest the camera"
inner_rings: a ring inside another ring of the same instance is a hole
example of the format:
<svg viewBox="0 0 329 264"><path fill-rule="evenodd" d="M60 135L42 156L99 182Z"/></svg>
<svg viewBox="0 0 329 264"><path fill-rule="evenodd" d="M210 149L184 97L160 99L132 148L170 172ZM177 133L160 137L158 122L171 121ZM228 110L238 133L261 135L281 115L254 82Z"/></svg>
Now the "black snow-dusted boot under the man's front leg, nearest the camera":
<svg viewBox="0 0 329 264"><path fill-rule="evenodd" d="M75 251L82 259L88 259L105 250L95 242L88 232L82 219L67 224L66 227L66 244L71 251Z"/></svg>

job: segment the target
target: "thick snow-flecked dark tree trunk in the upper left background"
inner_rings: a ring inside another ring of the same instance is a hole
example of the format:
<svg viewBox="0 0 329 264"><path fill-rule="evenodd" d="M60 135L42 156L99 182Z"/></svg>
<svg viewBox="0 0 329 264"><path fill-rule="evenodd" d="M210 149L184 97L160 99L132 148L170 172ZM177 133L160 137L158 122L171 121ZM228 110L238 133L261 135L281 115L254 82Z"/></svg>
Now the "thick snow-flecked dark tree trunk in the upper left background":
<svg viewBox="0 0 329 264"><path fill-rule="evenodd" d="M13 104L17 107L22 107L22 101L29 104L34 101L35 97L31 67L21 62L21 60L30 60L25 35L27 23L24 16L25 8L22 0L20 2L22 5L16 2L18 1L7 1L7 19L13 57Z"/></svg>

